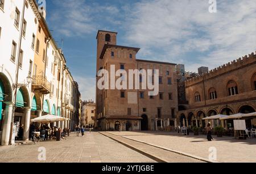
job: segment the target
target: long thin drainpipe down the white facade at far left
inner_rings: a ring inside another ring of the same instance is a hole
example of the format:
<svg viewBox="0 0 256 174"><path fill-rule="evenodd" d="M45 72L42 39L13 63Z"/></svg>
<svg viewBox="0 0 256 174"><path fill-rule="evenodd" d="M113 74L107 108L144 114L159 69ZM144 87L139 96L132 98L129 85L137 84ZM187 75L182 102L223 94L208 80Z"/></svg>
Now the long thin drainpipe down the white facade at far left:
<svg viewBox="0 0 256 174"><path fill-rule="evenodd" d="M24 22L24 12L25 12L25 3L26 0L23 1L23 9L22 9L22 22L21 22L21 30L19 34L19 47L18 47L18 61L16 63L16 76L15 76L15 92L14 92L14 105L13 105L13 114L11 118L11 129L10 129L10 138L9 138L9 144L11 145L11 140L13 136L13 124L14 124L14 115L15 115L15 109L16 109L16 95L18 90L18 78L19 78L19 61L20 61L20 48L22 44L22 32L23 32L23 22Z"/></svg>

